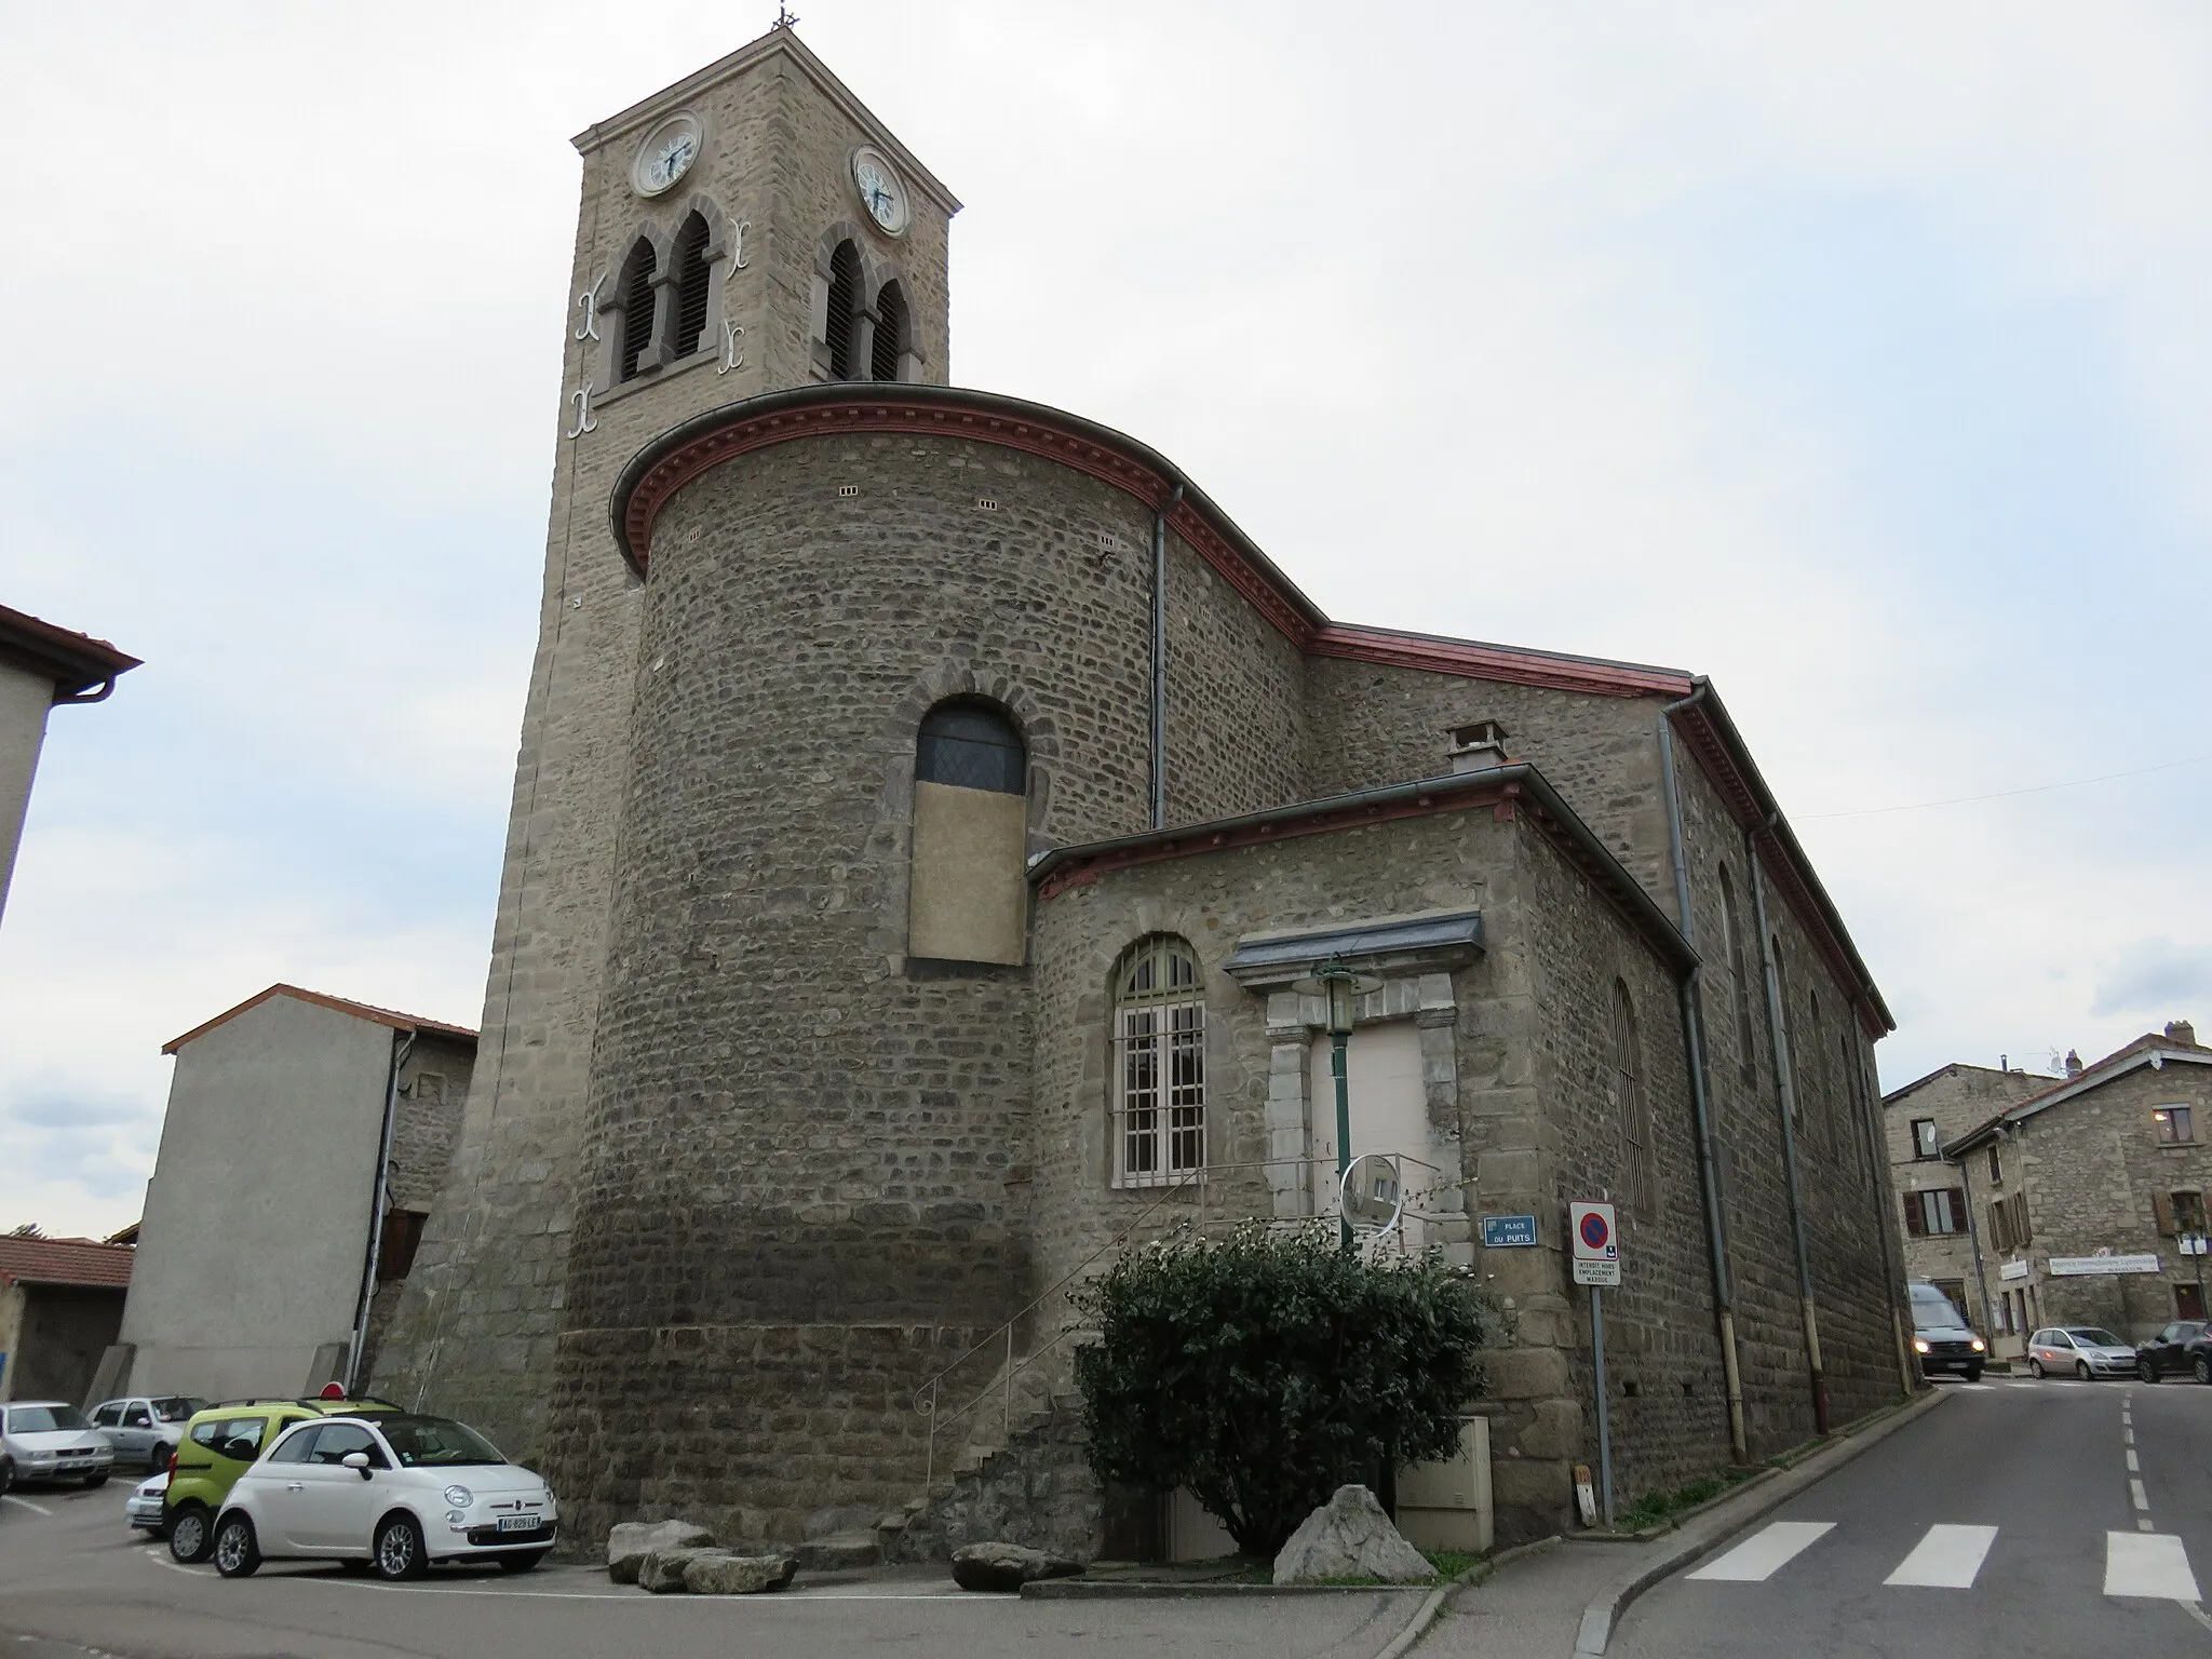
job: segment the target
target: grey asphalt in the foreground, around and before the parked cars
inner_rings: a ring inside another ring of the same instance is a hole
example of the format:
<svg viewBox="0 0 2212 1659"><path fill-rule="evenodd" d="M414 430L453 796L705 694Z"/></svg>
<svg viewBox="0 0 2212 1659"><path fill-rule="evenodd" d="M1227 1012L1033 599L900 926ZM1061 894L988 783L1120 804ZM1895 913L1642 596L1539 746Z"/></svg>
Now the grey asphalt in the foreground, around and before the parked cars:
<svg viewBox="0 0 2212 1659"><path fill-rule="evenodd" d="M2212 1394L2212 1389L2208 1389ZM272 1562L250 1579L177 1566L124 1524L128 1480L0 1498L0 1659L604 1659L664 1652L849 1659L1265 1655L1374 1659L1416 1599L1022 1601L967 1595L942 1571L776 1595L646 1595L604 1571L522 1579L436 1571L425 1584Z"/></svg>

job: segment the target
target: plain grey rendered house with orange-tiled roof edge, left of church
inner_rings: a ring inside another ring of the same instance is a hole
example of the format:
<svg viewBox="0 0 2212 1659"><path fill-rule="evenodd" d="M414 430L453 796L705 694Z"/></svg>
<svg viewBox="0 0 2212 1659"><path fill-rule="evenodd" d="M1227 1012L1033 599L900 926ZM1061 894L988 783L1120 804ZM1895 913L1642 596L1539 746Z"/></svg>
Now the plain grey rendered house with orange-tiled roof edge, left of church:
<svg viewBox="0 0 2212 1659"><path fill-rule="evenodd" d="M272 984L186 1031L113 1394L365 1378L445 1181L476 1033Z"/></svg>

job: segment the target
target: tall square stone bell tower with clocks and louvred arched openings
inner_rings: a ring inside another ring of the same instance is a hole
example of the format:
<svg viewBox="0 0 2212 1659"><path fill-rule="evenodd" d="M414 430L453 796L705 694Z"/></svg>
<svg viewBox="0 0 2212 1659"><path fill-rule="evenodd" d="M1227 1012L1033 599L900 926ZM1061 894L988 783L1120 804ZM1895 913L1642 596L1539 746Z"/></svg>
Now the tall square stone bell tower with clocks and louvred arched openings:
<svg viewBox="0 0 2212 1659"><path fill-rule="evenodd" d="M584 159L538 655L482 1060L380 1349L392 1398L540 1449L628 776L644 584L608 502L708 409L821 380L949 380L953 195L779 24L575 137Z"/></svg>

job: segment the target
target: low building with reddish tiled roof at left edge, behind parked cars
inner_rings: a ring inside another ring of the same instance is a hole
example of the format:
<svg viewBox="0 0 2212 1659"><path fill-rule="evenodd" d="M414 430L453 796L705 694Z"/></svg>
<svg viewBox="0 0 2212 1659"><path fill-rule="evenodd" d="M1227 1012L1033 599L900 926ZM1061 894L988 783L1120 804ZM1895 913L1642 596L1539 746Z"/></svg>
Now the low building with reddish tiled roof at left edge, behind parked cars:
<svg viewBox="0 0 2212 1659"><path fill-rule="evenodd" d="M131 1263L126 1245L0 1234L0 1400L88 1402Z"/></svg>

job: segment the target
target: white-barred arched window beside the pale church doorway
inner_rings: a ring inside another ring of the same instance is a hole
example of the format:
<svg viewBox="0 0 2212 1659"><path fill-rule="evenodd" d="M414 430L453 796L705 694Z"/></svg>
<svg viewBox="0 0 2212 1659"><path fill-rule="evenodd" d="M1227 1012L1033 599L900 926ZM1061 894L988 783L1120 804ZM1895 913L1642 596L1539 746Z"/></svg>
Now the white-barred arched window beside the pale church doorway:
<svg viewBox="0 0 2212 1659"><path fill-rule="evenodd" d="M1172 933L1113 964L1113 1181L1168 1186L1206 1168L1206 989Z"/></svg>

